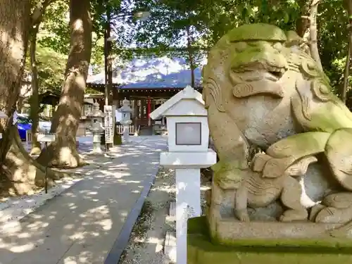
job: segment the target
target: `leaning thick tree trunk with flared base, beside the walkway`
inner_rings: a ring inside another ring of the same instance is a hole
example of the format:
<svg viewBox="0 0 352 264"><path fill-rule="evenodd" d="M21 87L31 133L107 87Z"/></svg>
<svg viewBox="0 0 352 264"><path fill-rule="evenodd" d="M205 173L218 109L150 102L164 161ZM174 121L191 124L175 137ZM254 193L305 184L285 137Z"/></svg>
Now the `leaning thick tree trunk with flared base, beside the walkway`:
<svg viewBox="0 0 352 264"><path fill-rule="evenodd" d="M89 0L70 0L70 53L58 108L51 120L56 141L37 161L58 168L84 165L76 148L76 133L84 101L84 89L92 52L92 20Z"/></svg>

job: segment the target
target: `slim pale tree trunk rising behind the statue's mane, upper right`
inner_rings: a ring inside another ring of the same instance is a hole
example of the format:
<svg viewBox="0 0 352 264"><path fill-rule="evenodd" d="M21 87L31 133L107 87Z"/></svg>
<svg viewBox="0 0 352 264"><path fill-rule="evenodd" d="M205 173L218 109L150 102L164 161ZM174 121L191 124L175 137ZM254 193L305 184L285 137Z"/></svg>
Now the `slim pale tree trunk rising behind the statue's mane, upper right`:
<svg viewBox="0 0 352 264"><path fill-rule="evenodd" d="M318 64L320 70L322 69L322 62L320 61L319 49L318 49L318 29L317 29L317 14L318 14L318 5L320 0L312 0L310 4L310 25L309 25L309 47L310 54Z"/></svg>

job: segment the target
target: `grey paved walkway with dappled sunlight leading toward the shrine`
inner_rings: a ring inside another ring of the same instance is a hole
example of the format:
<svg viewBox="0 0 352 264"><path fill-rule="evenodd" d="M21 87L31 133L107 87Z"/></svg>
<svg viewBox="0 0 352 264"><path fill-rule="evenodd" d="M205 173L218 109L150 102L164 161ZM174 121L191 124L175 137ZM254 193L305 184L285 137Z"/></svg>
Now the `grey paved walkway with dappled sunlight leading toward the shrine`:
<svg viewBox="0 0 352 264"><path fill-rule="evenodd" d="M158 169L165 139L136 137L117 158L0 233L1 264L103 264L122 225Z"/></svg>

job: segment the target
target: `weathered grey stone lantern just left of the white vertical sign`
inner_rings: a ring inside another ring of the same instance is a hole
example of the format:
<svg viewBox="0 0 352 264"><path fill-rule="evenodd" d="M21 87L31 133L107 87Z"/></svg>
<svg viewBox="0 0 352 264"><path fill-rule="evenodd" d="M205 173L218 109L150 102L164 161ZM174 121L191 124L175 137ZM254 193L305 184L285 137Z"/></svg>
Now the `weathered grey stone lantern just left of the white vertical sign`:
<svg viewBox="0 0 352 264"><path fill-rule="evenodd" d="M101 154L101 134L104 132L103 118L105 114L99 110L99 103L93 103L92 112L87 114L87 118L91 121L91 125L87 127L87 130L93 133L93 151L92 154Z"/></svg>

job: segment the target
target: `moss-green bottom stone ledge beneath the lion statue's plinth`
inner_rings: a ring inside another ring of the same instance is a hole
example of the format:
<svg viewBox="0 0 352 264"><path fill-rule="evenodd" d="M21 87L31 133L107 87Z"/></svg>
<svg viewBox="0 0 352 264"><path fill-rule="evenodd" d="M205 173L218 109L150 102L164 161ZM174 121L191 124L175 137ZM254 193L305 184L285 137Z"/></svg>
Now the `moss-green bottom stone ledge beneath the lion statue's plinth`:
<svg viewBox="0 0 352 264"><path fill-rule="evenodd" d="M352 239L238 239L232 246L210 241L205 217L188 221L188 264L344 264L352 261Z"/></svg>

